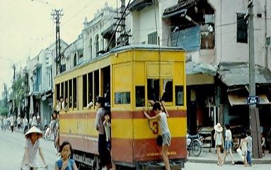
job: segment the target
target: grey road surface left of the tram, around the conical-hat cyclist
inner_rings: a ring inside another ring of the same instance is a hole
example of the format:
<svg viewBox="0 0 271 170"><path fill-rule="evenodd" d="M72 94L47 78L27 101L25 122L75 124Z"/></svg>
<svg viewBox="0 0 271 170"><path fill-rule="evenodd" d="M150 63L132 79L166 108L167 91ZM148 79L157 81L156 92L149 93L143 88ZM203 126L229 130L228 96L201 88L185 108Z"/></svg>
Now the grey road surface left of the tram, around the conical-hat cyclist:
<svg viewBox="0 0 271 170"><path fill-rule="evenodd" d="M20 169L21 160L23 159L25 137L20 132L0 130L0 170L17 170ZM48 169L54 169L54 162L59 159L56 155L56 149L52 141L41 139L42 151ZM40 156L38 155L40 160ZM41 161L41 160L40 160Z"/></svg>

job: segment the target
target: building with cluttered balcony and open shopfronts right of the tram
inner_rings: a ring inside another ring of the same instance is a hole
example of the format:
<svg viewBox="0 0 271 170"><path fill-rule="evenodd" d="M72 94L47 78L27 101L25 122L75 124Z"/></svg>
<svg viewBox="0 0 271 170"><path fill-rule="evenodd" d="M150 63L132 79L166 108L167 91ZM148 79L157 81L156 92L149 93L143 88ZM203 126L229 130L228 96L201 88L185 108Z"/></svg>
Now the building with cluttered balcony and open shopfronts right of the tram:
<svg viewBox="0 0 271 170"><path fill-rule="evenodd" d="M253 1L255 83L260 125L270 128L270 1ZM163 13L171 45L187 51L188 127L217 122L249 129L248 1L180 0ZM177 20L177 18L179 18Z"/></svg>

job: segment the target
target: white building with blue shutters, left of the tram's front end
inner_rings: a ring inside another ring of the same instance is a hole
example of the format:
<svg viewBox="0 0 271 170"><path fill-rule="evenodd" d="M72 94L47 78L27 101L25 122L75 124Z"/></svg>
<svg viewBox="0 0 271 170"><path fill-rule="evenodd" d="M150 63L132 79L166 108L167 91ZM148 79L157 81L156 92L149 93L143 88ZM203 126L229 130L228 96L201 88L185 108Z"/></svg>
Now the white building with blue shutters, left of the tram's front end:
<svg viewBox="0 0 271 170"><path fill-rule="evenodd" d="M61 40L62 52L68 45ZM41 50L33 59L28 58L26 69L28 73L28 99L25 111L28 118L40 116L42 125L50 123L54 109L54 76L56 75L55 43Z"/></svg>

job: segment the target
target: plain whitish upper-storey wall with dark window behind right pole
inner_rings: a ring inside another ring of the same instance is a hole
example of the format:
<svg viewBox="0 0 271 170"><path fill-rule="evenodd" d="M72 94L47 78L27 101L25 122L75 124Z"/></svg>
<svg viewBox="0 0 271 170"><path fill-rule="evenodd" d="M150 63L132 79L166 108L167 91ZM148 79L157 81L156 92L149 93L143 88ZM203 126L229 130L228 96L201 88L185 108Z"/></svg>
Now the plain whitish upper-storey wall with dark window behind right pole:
<svg viewBox="0 0 271 170"><path fill-rule="evenodd" d="M219 62L248 62L248 43L237 42L237 14L246 13L248 1L217 1L209 0L215 9L215 50ZM265 66L265 16L263 1L254 1L254 13L262 13L261 17L254 16L255 34L255 64ZM271 6L267 6L271 9ZM270 32L270 25L267 28Z"/></svg>

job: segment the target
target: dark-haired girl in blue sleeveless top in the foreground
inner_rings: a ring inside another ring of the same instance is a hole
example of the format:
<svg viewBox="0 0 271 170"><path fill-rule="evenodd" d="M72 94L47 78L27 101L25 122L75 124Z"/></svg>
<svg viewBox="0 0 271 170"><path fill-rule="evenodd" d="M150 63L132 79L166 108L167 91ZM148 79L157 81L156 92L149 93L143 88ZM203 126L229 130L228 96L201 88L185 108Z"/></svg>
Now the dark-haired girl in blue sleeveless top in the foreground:
<svg viewBox="0 0 271 170"><path fill-rule="evenodd" d="M78 170L74 159L72 159L71 144L64 141L59 147L61 159L55 163L55 170Z"/></svg>

